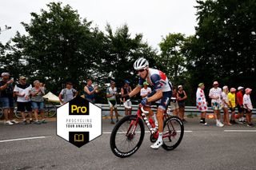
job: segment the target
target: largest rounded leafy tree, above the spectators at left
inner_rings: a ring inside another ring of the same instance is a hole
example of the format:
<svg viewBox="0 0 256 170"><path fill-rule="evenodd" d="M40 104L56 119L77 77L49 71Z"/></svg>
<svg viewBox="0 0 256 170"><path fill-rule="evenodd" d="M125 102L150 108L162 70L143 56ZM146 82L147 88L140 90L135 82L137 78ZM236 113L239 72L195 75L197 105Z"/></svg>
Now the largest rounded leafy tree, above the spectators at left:
<svg viewBox="0 0 256 170"><path fill-rule="evenodd" d="M30 24L22 22L27 36L16 36L15 43L26 60L27 76L45 80L59 91L65 81L79 85L98 69L102 33L69 5L50 2L49 10L31 13Z"/></svg>

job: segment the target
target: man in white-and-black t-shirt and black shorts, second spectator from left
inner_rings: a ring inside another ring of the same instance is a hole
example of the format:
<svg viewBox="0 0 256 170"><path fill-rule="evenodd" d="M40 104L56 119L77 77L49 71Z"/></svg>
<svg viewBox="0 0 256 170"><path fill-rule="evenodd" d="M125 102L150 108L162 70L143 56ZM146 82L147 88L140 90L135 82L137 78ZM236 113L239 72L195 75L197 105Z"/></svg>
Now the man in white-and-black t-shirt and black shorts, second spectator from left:
<svg viewBox="0 0 256 170"><path fill-rule="evenodd" d="M21 76L19 77L18 85L14 87L14 93L17 98L17 111L22 113L23 125L27 125L25 111L28 112L30 116L30 124L33 122L32 120L32 108L31 108L31 101L30 101L30 92L32 89L32 85L26 83L26 77Z"/></svg>

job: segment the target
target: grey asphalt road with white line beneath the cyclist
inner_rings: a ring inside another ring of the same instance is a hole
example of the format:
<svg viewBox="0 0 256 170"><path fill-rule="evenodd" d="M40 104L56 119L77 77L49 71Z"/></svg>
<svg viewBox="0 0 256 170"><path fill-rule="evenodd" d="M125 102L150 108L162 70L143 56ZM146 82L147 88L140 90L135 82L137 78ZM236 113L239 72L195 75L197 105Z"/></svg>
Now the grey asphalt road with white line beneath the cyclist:
<svg viewBox="0 0 256 170"><path fill-rule="evenodd" d="M218 128L188 119L182 143L174 151L150 148L146 133L138 152L125 159L110 150L114 125L103 120L102 136L77 148L46 125L0 124L0 169L256 169L256 128ZM239 131L242 130L242 132ZM36 137L36 138L30 138ZM27 139L24 139L27 138Z"/></svg>

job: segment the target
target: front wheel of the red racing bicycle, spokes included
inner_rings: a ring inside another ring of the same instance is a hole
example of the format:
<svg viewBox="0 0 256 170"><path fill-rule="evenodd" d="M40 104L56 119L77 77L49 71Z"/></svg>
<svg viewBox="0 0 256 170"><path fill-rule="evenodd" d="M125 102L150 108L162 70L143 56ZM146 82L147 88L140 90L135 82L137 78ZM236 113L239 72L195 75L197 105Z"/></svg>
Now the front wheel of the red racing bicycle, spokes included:
<svg viewBox="0 0 256 170"><path fill-rule="evenodd" d="M123 117L110 136L110 147L115 156L131 156L142 144L145 128L142 119L135 115Z"/></svg>

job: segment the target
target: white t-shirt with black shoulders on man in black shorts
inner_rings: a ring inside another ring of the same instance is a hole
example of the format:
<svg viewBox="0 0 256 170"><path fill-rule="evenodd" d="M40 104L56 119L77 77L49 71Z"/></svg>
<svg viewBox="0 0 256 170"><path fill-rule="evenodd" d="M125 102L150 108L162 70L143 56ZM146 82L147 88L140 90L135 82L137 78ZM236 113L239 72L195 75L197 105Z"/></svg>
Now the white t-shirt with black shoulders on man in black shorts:
<svg viewBox="0 0 256 170"><path fill-rule="evenodd" d="M19 97L17 98L18 102L29 102L30 101L30 97L26 100L26 96L30 94L30 90L32 89L32 85L26 84L26 85L15 85L14 87L14 92L18 92L19 94L24 94L24 97Z"/></svg>

